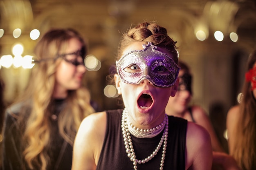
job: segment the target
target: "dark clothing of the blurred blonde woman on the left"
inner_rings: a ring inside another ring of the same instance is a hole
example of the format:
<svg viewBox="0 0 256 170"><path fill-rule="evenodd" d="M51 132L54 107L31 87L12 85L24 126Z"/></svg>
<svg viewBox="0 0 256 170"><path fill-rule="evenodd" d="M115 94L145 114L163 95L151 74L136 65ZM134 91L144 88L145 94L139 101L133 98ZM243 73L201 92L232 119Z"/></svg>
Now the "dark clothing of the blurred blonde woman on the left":
<svg viewBox="0 0 256 170"><path fill-rule="evenodd" d="M65 101L61 99L55 100L54 102L53 113L58 116L65 105ZM27 114L21 115L21 110L22 113ZM24 157L22 156L22 152L24 150L23 134L29 113L30 108L28 106L24 106L24 104L17 104L7 109L2 145L3 170L29 170L27 163L25 163ZM21 116L25 117L22 119L22 122L18 121ZM71 170L73 147L64 141L63 137L61 137L57 119L54 120L50 118L50 120L51 141L47 150L51 162L47 167L47 170Z"/></svg>

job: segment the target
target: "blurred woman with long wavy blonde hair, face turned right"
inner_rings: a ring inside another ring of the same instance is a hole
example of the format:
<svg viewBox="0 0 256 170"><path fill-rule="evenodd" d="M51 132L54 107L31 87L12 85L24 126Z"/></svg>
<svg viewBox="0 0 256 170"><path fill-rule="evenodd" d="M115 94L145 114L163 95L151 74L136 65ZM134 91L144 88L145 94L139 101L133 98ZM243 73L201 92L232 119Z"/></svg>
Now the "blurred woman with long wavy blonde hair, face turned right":
<svg viewBox="0 0 256 170"><path fill-rule="evenodd" d="M70 170L76 132L94 112L81 87L86 44L73 29L52 29L34 52L27 90L6 110L3 169Z"/></svg>

